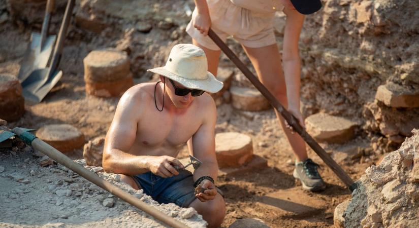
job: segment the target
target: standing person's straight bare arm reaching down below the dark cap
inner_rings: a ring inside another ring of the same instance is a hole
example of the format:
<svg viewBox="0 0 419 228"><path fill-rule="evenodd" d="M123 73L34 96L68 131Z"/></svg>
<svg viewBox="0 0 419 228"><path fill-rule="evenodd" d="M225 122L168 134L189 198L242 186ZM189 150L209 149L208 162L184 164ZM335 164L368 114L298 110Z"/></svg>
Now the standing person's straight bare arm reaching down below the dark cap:
<svg viewBox="0 0 419 228"><path fill-rule="evenodd" d="M300 78L301 62L298 48L304 15L295 9L285 8L286 22L282 47L282 64L288 98L288 110L299 119L304 126L300 112Z"/></svg>

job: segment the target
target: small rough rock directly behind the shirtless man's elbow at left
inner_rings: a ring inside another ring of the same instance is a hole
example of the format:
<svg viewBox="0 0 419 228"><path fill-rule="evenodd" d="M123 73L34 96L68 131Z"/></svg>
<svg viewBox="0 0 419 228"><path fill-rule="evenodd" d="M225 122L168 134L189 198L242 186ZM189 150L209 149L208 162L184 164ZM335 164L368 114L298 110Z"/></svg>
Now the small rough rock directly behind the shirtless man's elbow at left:
<svg viewBox="0 0 419 228"><path fill-rule="evenodd" d="M97 137L92 141L89 140L83 147L83 157L89 166L102 166L103 146L105 144L104 137Z"/></svg>

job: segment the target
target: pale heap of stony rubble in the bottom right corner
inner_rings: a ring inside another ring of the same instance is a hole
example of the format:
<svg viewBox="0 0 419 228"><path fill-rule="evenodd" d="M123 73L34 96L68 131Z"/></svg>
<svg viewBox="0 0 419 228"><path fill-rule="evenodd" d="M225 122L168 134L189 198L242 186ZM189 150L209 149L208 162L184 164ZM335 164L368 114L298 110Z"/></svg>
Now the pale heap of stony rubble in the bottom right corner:
<svg viewBox="0 0 419 228"><path fill-rule="evenodd" d="M415 227L419 222L419 130L369 167L352 199L335 209L336 227Z"/></svg>

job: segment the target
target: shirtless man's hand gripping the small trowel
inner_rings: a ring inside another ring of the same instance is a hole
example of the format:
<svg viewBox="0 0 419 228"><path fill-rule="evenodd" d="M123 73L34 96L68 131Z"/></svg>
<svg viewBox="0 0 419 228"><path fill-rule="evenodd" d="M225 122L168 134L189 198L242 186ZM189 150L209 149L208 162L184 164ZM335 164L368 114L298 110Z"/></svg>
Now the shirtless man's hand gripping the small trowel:
<svg viewBox="0 0 419 228"><path fill-rule="evenodd" d="M148 169L155 175L161 176L163 178L168 178L179 174L173 165L179 166L182 169L184 168L179 160L170 156L150 157L147 162Z"/></svg>

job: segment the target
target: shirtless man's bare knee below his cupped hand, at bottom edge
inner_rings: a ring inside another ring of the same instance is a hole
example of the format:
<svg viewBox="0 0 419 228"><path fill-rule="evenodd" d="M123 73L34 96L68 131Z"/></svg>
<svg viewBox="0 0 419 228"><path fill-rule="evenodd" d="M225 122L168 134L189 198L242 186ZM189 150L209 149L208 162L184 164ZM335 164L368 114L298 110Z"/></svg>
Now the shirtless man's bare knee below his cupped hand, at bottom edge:
<svg viewBox="0 0 419 228"><path fill-rule="evenodd" d="M195 208L208 222L208 227L219 227L225 216L225 202L221 195L217 194L213 200L201 202L195 199L189 207Z"/></svg>

